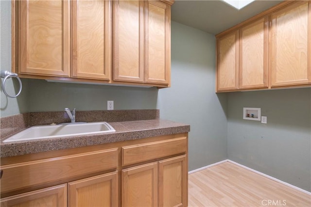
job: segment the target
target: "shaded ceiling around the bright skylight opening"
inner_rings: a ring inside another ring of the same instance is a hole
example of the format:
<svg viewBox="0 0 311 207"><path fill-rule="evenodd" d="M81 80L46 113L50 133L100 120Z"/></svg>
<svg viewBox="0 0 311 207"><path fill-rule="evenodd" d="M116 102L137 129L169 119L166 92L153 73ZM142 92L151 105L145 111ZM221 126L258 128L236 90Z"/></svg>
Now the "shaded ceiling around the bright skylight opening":
<svg viewBox="0 0 311 207"><path fill-rule="evenodd" d="M255 0L237 10L222 0L175 0L172 20L216 35L282 1Z"/></svg>

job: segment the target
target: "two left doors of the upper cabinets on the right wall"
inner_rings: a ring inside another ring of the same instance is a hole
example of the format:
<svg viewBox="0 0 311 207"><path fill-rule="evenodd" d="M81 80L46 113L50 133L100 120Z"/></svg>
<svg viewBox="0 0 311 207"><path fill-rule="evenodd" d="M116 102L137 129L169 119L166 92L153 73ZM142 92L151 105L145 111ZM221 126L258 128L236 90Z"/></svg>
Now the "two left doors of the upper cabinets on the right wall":
<svg viewBox="0 0 311 207"><path fill-rule="evenodd" d="M268 87L268 17L217 40L217 91Z"/></svg>

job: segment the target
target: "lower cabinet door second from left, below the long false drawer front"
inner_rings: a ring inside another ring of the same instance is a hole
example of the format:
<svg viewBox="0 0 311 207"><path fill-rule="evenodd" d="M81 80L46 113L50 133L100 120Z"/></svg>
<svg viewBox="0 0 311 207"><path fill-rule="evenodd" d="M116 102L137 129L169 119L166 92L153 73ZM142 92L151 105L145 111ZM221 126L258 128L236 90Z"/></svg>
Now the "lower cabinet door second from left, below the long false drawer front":
<svg viewBox="0 0 311 207"><path fill-rule="evenodd" d="M69 207L118 206L118 172L68 183Z"/></svg>

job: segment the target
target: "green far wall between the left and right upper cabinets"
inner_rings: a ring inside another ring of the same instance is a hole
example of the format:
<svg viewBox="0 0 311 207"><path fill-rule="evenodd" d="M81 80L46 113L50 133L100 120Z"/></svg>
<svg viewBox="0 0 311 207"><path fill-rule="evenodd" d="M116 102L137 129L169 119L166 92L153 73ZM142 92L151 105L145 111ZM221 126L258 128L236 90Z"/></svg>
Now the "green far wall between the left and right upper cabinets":
<svg viewBox="0 0 311 207"><path fill-rule="evenodd" d="M158 92L160 118L190 124L189 170L226 159L226 95L215 94L215 36L172 23L172 87Z"/></svg>

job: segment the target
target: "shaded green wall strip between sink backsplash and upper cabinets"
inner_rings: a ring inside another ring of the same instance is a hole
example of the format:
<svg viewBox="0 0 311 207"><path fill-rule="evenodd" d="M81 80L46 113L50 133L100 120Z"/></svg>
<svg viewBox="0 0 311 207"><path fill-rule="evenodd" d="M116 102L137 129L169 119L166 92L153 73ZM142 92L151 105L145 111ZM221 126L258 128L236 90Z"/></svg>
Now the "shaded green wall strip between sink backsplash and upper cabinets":
<svg viewBox="0 0 311 207"><path fill-rule="evenodd" d="M29 81L29 111L62 111L65 107L82 110L155 109L158 89L155 87L103 86L90 84Z"/></svg>

